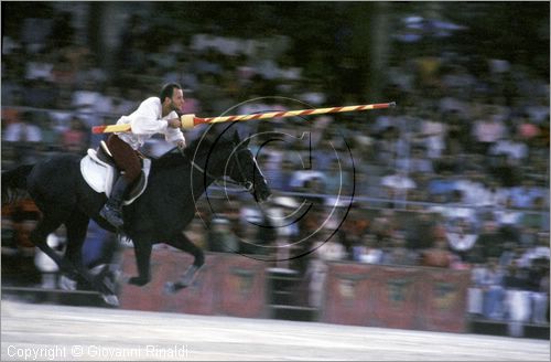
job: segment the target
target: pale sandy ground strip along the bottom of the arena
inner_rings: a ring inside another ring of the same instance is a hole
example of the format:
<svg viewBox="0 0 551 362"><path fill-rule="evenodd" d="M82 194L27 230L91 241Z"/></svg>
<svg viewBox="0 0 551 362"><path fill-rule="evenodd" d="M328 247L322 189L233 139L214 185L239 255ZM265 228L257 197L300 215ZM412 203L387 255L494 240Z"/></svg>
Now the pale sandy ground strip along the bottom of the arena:
<svg viewBox="0 0 551 362"><path fill-rule="evenodd" d="M550 343L2 300L2 361L549 361Z"/></svg>

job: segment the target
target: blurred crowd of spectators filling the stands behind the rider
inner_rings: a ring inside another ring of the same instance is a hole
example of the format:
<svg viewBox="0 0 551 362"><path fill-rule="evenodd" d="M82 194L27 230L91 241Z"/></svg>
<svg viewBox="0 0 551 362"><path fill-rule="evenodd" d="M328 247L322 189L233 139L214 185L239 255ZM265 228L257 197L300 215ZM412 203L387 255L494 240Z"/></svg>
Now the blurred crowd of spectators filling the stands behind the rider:
<svg viewBox="0 0 551 362"><path fill-rule="evenodd" d="M298 62L289 36L237 39L198 28L188 42L174 38L151 52L139 17L128 20L112 72L72 36L69 20L60 11L47 22L28 19L21 36L2 34L2 170L55 152L85 155L105 137L91 126L114 124L170 81L185 87L183 113L201 116L396 100L395 109L369 114L242 126L292 136L258 149L272 204L262 214L250 199L222 200L219 212L199 207L186 233L208 251L276 256L274 266L304 277L313 306L326 262L352 260L469 269L468 312L549 321L549 76L453 46L423 54L400 43L379 99L366 99L346 86L363 60L343 58L343 84L327 86L314 76L323 56ZM153 138L144 153L169 149ZM347 213L339 224L327 210L343 190L352 207L337 205L336 215ZM292 227L251 226L291 214L302 200L315 207ZM29 251L25 235L37 217L29 204L2 209L2 256ZM316 233L324 217L333 222ZM115 243L90 233L96 245Z"/></svg>

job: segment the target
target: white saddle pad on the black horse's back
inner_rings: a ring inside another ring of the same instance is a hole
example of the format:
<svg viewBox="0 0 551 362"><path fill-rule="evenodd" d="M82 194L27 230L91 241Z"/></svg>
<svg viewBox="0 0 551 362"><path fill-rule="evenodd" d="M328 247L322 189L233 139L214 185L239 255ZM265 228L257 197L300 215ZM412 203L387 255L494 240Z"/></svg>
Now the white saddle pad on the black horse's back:
<svg viewBox="0 0 551 362"><path fill-rule="evenodd" d="M148 187L149 172L151 170L151 160L141 159L142 170L140 177L133 182L126 192L123 205L131 204L138 199ZM107 145L101 141L97 150L88 149L88 155L80 160L80 173L88 185L96 192L105 193L107 198L111 195L111 190L121 175L120 170L115 164L112 155Z"/></svg>

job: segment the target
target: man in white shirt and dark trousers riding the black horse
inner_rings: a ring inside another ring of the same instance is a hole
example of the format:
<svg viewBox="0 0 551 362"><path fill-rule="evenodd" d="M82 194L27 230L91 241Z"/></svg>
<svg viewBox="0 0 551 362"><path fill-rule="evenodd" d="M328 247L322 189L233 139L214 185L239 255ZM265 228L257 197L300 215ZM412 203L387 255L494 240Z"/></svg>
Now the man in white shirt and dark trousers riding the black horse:
<svg viewBox="0 0 551 362"><path fill-rule="evenodd" d="M184 105L182 87L169 83L161 89L160 97L143 100L137 110L129 116L122 116L117 125L130 125L127 132L115 132L107 139L115 163L122 170L122 175L116 181L111 196L99 212L112 226L123 225L122 200L125 192L141 172L138 149L145 140L155 134L164 134L168 142L174 142L180 150L185 148L185 138L181 131L182 123L176 114Z"/></svg>

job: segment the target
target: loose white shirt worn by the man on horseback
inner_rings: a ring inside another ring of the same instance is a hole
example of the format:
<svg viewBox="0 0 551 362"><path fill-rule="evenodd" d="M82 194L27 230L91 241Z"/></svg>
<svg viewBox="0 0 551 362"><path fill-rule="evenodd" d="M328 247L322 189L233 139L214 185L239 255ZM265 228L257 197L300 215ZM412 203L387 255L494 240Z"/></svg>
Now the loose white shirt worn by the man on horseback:
<svg viewBox="0 0 551 362"><path fill-rule="evenodd" d="M117 125L130 125L131 132L116 132L120 139L137 150L143 146L145 140L155 134L163 134L168 142L177 143L184 139L184 134L179 128L169 127L169 119L179 118L175 111L162 116L162 105L159 97L150 97L143 100L138 109L129 116L122 116Z"/></svg>

